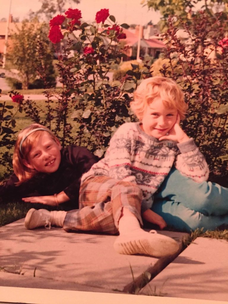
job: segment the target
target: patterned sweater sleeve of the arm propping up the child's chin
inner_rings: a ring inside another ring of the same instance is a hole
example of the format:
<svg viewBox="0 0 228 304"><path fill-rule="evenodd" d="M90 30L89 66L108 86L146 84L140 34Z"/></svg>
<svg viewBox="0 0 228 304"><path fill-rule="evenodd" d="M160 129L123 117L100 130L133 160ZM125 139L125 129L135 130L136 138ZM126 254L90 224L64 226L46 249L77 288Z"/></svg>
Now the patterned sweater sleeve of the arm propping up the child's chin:
<svg viewBox="0 0 228 304"><path fill-rule="evenodd" d="M184 143L178 143L177 147L180 154L177 155L175 167L182 175L191 178L193 181L206 181L209 177L209 168L193 138Z"/></svg>

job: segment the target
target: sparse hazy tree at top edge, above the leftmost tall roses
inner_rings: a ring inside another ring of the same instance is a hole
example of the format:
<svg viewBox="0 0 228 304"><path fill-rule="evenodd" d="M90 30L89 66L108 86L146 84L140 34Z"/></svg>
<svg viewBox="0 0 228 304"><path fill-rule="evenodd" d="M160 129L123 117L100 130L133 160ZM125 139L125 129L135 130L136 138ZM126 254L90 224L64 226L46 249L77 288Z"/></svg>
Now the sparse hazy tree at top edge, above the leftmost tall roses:
<svg viewBox="0 0 228 304"><path fill-rule="evenodd" d="M30 12L30 17L45 16L50 20L56 14L62 14L66 7L72 3L79 4L80 0L40 0L42 2L41 8L37 12Z"/></svg>

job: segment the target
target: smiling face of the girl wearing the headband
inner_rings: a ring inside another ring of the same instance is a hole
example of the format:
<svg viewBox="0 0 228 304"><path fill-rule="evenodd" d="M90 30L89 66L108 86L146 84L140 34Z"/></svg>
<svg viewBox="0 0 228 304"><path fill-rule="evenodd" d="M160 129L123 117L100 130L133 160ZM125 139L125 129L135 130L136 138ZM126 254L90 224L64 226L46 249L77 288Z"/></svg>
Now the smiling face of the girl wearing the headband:
<svg viewBox="0 0 228 304"><path fill-rule="evenodd" d="M60 165L61 145L48 132L42 132L37 144L29 152L28 159L24 160L24 164L38 172L53 173Z"/></svg>

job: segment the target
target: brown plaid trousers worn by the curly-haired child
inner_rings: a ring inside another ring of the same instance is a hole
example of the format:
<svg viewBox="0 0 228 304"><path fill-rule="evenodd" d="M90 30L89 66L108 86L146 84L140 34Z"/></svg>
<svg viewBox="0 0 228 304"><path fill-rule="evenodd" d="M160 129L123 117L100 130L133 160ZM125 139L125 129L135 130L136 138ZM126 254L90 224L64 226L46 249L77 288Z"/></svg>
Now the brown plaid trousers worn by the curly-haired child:
<svg viewBox="0 0 228 304"><path fill-rule="evenodd" d="M142 225L141 202L142 191L137 185L108 176L90 176L80 187L80 209L67 212L63 228L116 234L123 207Z"/></svg>

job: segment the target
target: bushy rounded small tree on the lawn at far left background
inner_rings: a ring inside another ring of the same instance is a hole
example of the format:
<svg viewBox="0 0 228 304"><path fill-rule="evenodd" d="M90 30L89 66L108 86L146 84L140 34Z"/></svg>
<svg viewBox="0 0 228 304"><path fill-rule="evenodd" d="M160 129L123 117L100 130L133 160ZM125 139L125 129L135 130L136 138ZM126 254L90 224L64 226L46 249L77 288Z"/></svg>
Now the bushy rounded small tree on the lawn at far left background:
<svg viewBox="0 0 228 304"><path fill-rule="evenodd" d="M23 20L21 27L16 28L17 32L11 35L7 59L19 71L22 88L27 89L29 84L40 78L37 70L42 69L48 76L54 73L48 28L46 23L39 23L37 19Z"/></svg>

